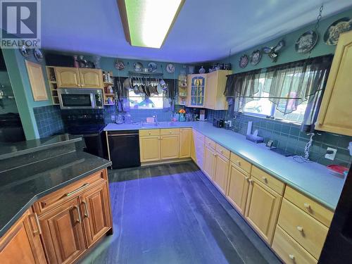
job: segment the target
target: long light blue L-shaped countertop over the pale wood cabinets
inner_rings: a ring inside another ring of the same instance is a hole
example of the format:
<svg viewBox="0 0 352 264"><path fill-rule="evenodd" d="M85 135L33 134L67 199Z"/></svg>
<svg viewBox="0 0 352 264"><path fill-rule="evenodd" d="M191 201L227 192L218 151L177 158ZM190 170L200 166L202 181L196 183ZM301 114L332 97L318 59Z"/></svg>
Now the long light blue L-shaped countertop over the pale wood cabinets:
<svg viewBox="0 0 352 264"><path fill-rule="evenodd" d="M105 131L192 127L206 137L246 159L331 210L335 210L344 187L344 177L332 174L324 165L314 162L298 163L293 157L284 157L270 151L264 144L246 140L242 134L213 127L210 122L161 122L161 125L142 127L139 124L108 124Z"/></svg>

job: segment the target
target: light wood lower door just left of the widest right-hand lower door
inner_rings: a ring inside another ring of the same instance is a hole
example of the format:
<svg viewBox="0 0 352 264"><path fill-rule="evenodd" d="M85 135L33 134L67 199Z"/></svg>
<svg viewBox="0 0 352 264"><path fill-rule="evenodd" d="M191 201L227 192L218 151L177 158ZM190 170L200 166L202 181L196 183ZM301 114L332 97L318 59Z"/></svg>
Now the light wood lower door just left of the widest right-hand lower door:
<svg viewBox="0 0 352 264"><path fill-rule="evenodd" d="M246 209L248 189L249 177L237 170L234 165L230 165L227 199L241 215L244 215L244 210Z"/></svg>

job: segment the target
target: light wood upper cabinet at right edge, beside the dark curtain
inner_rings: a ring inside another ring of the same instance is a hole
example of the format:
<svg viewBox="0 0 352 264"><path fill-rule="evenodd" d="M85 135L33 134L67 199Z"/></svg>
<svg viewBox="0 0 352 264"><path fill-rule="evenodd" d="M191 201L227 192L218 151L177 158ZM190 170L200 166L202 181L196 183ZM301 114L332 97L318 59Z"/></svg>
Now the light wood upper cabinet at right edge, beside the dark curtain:
<svg viewBox="0 0 352 264"><path fill-rule="evenodd" d="M352 31L341 34L315 123L316 130L352 136Z"/></svg>

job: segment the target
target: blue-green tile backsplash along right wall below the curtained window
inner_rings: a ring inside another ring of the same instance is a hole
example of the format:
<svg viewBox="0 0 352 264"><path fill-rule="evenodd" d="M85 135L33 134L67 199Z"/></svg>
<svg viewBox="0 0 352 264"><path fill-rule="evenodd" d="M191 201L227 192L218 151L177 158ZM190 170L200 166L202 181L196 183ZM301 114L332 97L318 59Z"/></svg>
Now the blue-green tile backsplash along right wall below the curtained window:
<svg viewBox="0 0 352 264"><path fill-rule="evenodd" d="M207 110L208 122L213 122L214 117L226 119L226 112ZM249 121L253 122L252 132L258 130L258 135L264 137L265 142L272 139L274 140L274 146L297 155L303 154L304 147L310 139L310 136L305 132L301 132L300 125L244 114L238 115L232 124L232 130L245 135ZM310 160L323 165L340 164L349 167L352 157L347 149L348 142L352 142L352 137L329 132L320 132L320 135L315 134L313 144L310 147ZM325 158L327 147L337 149L334 161Z"/></svg>

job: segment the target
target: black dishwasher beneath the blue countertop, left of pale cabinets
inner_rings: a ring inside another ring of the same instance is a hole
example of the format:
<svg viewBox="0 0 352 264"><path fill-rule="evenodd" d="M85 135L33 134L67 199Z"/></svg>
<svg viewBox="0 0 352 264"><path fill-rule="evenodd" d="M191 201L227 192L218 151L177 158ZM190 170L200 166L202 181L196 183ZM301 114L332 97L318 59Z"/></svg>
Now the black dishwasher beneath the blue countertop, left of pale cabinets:
<svg viewBox="0 0 352 264"><path fill-rule="evenodd" d="M138 130L109 131L108 149L113 169L141 165Z"/></svg>

